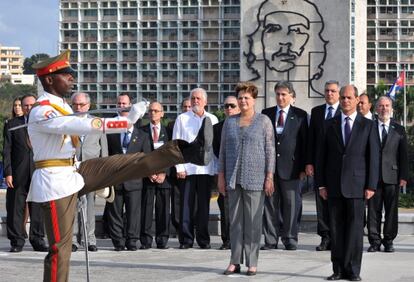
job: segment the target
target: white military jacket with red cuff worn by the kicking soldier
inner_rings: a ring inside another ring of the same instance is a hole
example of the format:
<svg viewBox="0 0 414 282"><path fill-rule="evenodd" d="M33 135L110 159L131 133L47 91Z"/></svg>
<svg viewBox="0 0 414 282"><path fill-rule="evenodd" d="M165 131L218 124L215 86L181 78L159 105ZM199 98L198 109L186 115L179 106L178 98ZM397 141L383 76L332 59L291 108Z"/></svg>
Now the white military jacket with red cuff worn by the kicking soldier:
<svg viewBox="0 0 414 282"><path fill-rule="evenodd" d="M38 103L42 101L49 101L72 113L71 107L58 96L44 92L37 100ZM28 133L33 147L34 161L73 158L75 148L69 135L102 134L103 128L93 125L95 119L63 116L50 105L33 107L29 115ZM104 124L106 122L111 120L103 120ZM106 132L124 131L126 127L108 128ZM83 178L76 172L75 166L36 169L27 201L48 202L61 199L78 192L83 186Z"/></svg>

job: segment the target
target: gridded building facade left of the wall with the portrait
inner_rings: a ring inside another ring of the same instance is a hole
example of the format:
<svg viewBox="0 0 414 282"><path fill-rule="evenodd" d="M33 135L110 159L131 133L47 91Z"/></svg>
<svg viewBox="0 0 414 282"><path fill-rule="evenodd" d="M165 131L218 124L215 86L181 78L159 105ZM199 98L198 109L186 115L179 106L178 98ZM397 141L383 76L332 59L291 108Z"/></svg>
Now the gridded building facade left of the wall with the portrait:
<svg viewBox="0 0 414 282"><path fill-rule="evenodd" d="M203 87L212 111L239 80L240 1L61 0L60 47L100 107L129 92L175 115Z"/></svg>

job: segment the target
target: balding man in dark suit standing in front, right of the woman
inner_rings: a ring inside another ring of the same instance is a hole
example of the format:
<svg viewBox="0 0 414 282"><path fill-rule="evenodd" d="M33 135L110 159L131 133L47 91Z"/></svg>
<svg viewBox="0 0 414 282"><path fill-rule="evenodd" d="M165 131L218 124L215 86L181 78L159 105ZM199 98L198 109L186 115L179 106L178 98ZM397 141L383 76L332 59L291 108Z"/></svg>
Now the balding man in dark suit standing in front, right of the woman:
<svg viewBox="0 0 414 282"><path fill-rule="evenodd" d="M379 144L374 122L357 112L358 89L340 90L342 114L326 121L316 163L319 194L328 200L333 274L328 280L359 281L364 198L377 187Z"/></svg>

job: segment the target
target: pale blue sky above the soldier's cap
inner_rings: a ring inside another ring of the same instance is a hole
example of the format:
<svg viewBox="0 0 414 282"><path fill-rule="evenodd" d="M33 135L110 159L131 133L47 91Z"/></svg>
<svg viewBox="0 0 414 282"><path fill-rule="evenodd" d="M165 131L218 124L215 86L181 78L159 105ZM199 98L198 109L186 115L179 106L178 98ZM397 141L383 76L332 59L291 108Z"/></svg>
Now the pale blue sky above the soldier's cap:
<svg viewBox="0 0 414 282"><path fill-rule="evenodd" d="M18 46L25 57L57 54L59 0L0 0L0 44Z"/></svg>

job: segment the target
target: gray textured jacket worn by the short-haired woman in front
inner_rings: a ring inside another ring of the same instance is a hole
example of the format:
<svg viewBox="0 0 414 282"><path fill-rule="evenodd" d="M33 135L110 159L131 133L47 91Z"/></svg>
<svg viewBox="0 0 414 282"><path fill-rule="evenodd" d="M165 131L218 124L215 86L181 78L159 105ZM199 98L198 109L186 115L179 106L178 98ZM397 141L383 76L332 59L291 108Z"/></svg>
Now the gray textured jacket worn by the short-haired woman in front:
<svg viewBox="0 0 414 282"><path fill-rule="evenodd" d="M227 189L240 184L246 190L263 190L266 173L275 172L275 138L272 122L256 113L241 133L240 115L226 119L220 145L219 172L224 172ZM240 167L240 183L236 183Z"/></svg>

